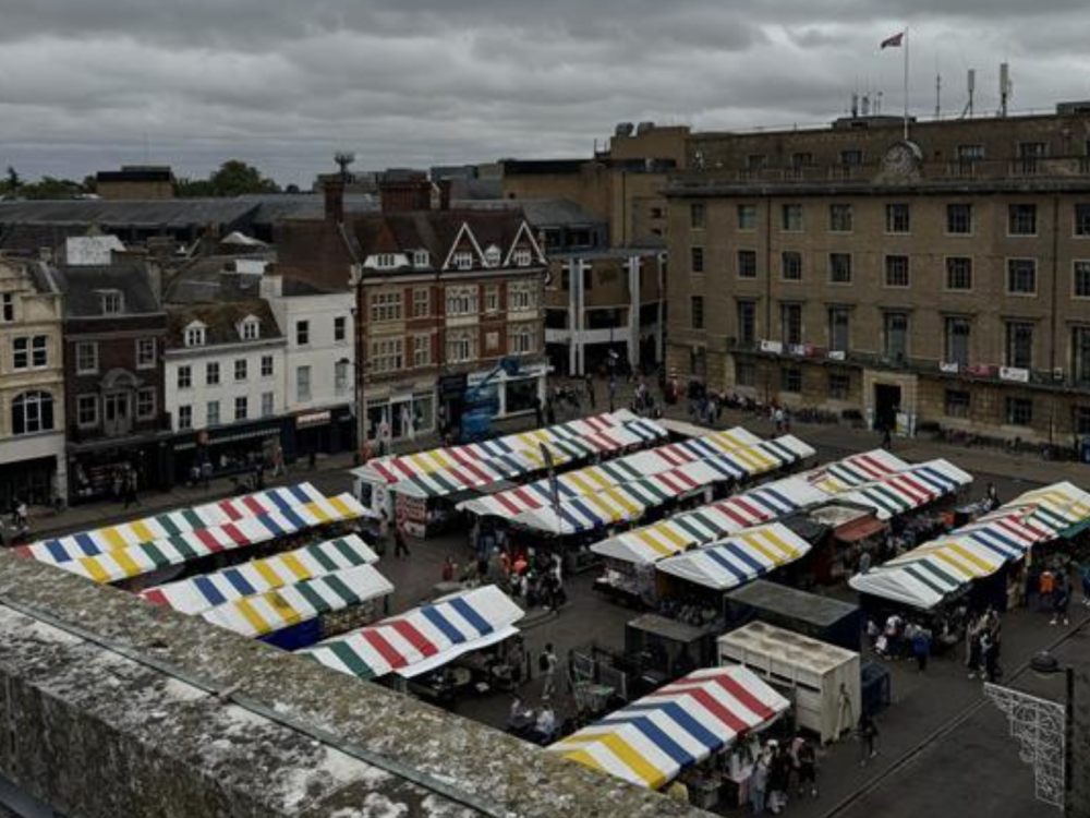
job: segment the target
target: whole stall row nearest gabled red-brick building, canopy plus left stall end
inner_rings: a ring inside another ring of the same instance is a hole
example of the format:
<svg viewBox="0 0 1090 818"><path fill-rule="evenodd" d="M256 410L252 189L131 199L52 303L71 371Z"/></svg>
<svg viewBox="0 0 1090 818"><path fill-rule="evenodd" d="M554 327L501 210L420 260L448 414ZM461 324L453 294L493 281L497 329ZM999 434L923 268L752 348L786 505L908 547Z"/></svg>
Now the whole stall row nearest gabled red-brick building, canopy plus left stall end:
<svg viewBox="0 0 1090 818"><path fill-rule="evenodd" d="M620 410L483 443L376 458L352 474L364 505L426 537L469 497L524 483L549 469L608 460L666 437L662 425Z"/></svg>

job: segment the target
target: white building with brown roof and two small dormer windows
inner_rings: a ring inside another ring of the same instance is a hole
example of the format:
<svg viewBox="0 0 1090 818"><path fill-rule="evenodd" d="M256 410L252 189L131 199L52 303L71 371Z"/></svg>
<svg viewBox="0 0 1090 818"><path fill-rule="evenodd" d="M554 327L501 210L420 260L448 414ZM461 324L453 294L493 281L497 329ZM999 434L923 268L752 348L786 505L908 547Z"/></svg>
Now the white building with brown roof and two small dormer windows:
<svg viewBox="0 0 1090 818"><path fill-rule="evenodd" d="M213 476L282 453L284 338L261 298L168 305L165 376L172 479Z"/></svg>

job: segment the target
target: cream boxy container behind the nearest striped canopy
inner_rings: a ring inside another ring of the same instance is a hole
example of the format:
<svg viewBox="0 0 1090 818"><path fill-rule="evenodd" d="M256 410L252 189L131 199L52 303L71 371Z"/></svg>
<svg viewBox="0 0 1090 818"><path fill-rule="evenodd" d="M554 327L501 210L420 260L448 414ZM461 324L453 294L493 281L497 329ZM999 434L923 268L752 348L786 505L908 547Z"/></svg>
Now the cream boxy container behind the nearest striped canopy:
<svg viewBox="0 0 1090 818"><path fill-rule="evenodd" d="M794 705L795 723L823 743L856 726L862 706L859 653L752 622L719 637L719 663L741 664L782 690Z"/></svg>

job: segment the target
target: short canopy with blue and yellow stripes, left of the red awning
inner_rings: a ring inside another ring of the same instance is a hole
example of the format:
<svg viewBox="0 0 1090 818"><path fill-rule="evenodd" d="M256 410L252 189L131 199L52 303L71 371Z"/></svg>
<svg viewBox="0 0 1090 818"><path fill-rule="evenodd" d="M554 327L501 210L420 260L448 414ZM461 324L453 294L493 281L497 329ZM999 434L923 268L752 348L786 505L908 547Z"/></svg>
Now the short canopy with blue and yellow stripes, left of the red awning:
<svg viewBox="0 0 1090 818"><path fill-rule="evenodd" d="M704 588L727 591L794 563L809 551L809 542L786 526L773 522L664 560L655 567Z"/></svg>

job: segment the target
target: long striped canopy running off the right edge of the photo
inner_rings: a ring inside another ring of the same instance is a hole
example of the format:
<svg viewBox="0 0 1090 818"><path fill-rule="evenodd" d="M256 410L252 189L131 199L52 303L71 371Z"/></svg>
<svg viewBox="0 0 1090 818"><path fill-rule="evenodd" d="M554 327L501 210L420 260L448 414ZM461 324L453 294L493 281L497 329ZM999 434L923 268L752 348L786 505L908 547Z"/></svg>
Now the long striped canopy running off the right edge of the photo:
<svg viewBox="0 0 1090 818"><path fill-rule="evenodd" d="M930 610L1088 518L1090 495L1057 483L1027 492L945 537L858 574L849 585L859 593Z"/></svg>

